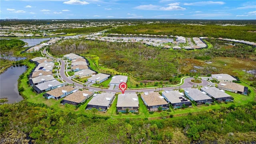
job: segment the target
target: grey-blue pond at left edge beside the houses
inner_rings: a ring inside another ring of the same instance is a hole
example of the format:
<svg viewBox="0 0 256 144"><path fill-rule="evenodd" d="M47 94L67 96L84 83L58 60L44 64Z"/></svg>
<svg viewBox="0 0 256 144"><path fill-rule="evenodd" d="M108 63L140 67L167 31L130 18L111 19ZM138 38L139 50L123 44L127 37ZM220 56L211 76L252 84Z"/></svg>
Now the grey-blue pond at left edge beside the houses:
<svg viewBox="0 0 256 144"><path fill-rule="evenodd" d="M11 66L0 74L0 98L7 98L10 104L23 100L18 92L18 79L26 70L26 66Z"/></svg>

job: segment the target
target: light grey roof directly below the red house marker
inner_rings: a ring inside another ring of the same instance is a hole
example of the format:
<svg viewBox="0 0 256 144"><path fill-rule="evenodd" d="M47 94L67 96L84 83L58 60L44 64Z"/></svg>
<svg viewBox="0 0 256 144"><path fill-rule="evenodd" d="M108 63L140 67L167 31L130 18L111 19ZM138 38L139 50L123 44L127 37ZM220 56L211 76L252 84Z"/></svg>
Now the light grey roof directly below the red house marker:
<svg viewBox="0 0 256 144"><path fill-rule="evenodd" d="M117 107L138 107L139 101L137 94L118 94Z"/></svg>

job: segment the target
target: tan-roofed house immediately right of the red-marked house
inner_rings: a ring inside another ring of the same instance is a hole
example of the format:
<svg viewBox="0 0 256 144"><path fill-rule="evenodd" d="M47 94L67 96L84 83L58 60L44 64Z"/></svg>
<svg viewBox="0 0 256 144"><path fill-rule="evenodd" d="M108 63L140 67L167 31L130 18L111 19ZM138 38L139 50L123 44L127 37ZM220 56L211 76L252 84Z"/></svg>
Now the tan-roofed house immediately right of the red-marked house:
<svg viewBox="0 0 256 144"><path fill-rule="evenodd" d="M158 92L145 92L144 94L141 94L141 98L149 111L158 111L159 107L162 107L162 110L169 109L168 103Z"/></svg>

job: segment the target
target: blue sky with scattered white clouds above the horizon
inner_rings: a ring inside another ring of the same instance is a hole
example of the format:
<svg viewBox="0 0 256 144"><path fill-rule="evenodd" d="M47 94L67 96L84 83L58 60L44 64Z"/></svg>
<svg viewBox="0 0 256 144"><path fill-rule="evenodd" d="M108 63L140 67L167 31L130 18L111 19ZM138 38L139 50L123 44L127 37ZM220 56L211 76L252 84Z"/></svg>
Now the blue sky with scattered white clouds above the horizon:
<svg viewBox="0 0 256 144"><path fill-rule="evenodd" d="M255 20L246 0L0 0L0 19L232 19Z"/></svg>

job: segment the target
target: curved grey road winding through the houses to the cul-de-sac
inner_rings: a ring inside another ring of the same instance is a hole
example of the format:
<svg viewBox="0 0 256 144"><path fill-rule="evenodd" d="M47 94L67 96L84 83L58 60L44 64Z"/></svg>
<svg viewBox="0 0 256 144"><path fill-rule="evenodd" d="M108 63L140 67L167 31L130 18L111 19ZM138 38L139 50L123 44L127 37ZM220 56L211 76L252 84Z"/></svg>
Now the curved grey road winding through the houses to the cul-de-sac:
<svg viewBox="0 0 256 144"><path fill-rule="evenodd" d="M46 56L48 58L54 59L54 60L58 60L61 63L61 67L60 67L60 76L63 78L63 80L65 80L66 82L73 84L75 86L78 86L80 88L84 88L84 86L82 84L79 84L77 82L74 82L72 80L70 80L66 75L65 75L65 65L66 62L64 60L61 60L60 58L54 58L50 55L47 54L46 50L43 50L43 53L46 54ZM192 80L193 78L185 78L184 79L184 84L180 85L180 86L174 86L174 87L165 87L165 88L156 88L156 90L160 91L160 90L174 90L174 89L178 89L178 88L192 88L192 87L196 87L198 86L208 86L209 82L207 82L206 80L202 79L202 83L201 84L195 84L190 82L190 80ZM101 88L95 88L92 86L88 86L89 90L95 90L95 91L101 91ZM127 89L128 90L128 89ZM104 89L105 92L121 92L121 90L110 90L110 89ZM148 88L148 89L137 89L137 90L128 90L129 92L154 92L155 88Z"/></svg>

